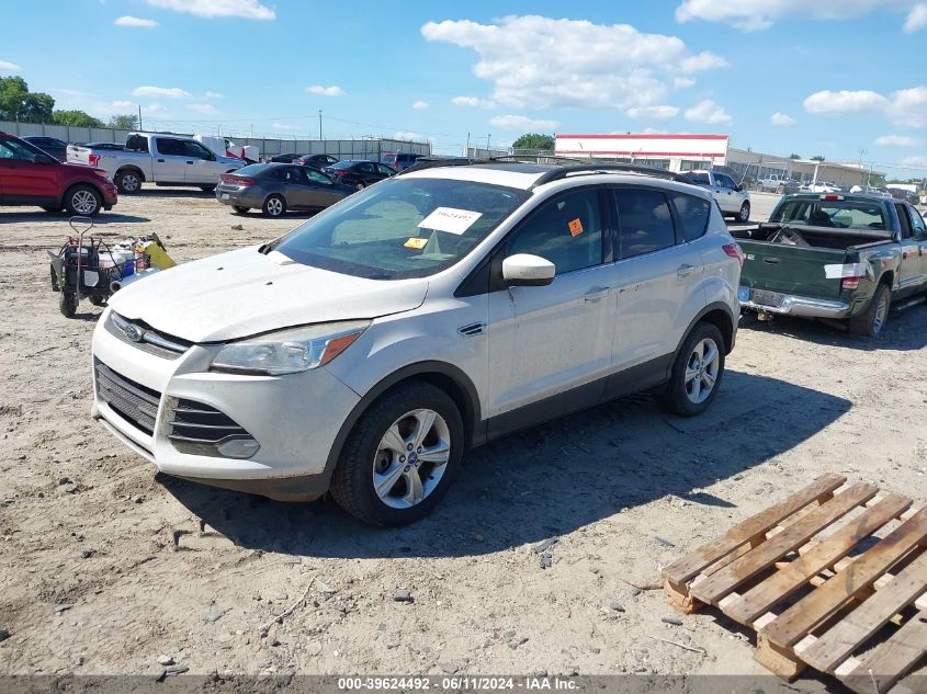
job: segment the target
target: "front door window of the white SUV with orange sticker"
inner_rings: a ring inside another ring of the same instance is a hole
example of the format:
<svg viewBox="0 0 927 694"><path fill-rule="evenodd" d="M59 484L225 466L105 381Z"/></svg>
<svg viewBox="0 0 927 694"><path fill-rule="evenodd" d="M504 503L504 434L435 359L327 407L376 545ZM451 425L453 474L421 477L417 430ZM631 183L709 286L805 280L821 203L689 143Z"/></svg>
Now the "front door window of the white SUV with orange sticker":
<svg viewBox="0 0 927 694"><path fill-rule="evenodd" d="M602 224L595 189L544 203L509 238L507 255L530 253L551 261L557 274L602 262Z"/></svg>

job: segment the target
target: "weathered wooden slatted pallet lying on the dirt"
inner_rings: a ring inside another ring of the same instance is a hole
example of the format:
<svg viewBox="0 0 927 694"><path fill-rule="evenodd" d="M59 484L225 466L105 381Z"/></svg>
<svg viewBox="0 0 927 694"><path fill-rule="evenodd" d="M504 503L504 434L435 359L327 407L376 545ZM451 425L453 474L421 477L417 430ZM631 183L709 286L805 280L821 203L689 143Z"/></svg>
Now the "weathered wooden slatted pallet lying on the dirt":
<svg viewBox="0 0 927 694"><path fill-rule="evenodd" d="M927 507L846 481L824 475L738 523L666 567L664 585L686 614L709 604L755 629L755 659L789 681L811 665L861 694L904 694L927 653Z"/></svg>

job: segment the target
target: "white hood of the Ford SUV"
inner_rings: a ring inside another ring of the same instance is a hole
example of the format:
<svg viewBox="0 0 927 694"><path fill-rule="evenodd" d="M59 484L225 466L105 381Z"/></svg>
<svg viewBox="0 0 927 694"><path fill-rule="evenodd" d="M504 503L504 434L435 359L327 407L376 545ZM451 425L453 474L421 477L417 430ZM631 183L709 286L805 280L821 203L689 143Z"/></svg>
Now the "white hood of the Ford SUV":
<svg viewBox="0 0 927 694"><path fill-rule="evenodd" d="M332 320L377 318L421 306L428 280L381 281L301 265L258 246L138 280L109 305L132 320L190 340L217 342Z"/></svg>

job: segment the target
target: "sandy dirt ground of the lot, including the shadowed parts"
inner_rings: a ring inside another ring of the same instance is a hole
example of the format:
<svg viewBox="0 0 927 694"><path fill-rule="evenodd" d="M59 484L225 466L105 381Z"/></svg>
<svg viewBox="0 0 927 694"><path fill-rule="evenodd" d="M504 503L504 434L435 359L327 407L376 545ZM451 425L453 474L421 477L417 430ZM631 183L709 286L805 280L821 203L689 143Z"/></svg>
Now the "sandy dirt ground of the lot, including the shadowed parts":
<svg viewBox="0 0 927 694"><path fill-rule="evenodd" d="M775 202L754 200L755 218ZM146 190L98 231L157 231L188 261L297 221ZM89 417L100 309L64 318L45 254L67 232L0 209L0 674L157 674L160 655L191 673L758 674L748 632L665 623L663 592L631 583L824 473L927 500L924 307L875 340L746 321L706 414L633 397L509 436L400 530L156 476Z"/></svg>

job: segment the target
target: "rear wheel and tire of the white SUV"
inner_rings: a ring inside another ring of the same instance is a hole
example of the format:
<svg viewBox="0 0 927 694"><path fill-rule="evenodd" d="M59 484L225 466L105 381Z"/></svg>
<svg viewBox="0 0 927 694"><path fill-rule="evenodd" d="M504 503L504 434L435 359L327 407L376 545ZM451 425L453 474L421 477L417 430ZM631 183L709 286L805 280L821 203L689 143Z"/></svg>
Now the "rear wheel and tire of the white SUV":
<svg viewBox="0 0 927 694"><path fill-rule="evenodd" d="M724 338L716 326L700 322L679 348L669 383L657 394L657 402L681 417L701 414L717 395L722 376Z"/></svg>

